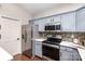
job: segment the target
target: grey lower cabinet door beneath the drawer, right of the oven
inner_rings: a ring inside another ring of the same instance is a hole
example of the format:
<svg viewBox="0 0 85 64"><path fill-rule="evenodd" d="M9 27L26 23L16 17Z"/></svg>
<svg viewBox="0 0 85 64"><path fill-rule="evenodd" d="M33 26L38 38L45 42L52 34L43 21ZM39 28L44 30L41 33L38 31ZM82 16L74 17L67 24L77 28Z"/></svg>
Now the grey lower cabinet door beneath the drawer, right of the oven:
<svg viewBox="0 0 85 64"><path fill-rule="evenodd" d="M72 53L65 50L60 50L60 61L72 61Z"/></svg>

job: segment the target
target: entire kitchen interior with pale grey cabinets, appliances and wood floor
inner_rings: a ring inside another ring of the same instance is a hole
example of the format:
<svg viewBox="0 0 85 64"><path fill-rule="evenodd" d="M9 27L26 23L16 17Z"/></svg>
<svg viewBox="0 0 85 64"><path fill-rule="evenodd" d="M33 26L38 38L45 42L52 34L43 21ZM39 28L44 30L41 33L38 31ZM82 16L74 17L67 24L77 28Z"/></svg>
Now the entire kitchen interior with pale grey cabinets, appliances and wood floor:
<svg viewBox="0 0 85 64"><path fill-rule="evenodd" d="M0 61L85 61L84 3L1 3L0 13Z"/></svg>

